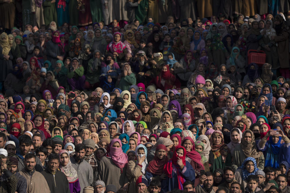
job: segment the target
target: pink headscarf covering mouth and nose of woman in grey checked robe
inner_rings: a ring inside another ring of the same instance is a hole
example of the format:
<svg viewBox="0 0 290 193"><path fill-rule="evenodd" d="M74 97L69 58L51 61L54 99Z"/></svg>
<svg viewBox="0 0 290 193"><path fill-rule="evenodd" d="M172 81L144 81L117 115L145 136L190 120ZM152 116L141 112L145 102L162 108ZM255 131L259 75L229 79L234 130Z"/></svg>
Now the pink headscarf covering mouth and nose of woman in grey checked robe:
<svg viewBox="0 0 290 193"><path fill-rule="evenodd" d="M113 144L118 142L120 147L113 147ZM113 162L118 166L118 168L124 168L127 165L127 154L122 150L122 142L120 139L116 138L113 139L109 144L109 151L106 154L106 157L111 158Z"/></svg>

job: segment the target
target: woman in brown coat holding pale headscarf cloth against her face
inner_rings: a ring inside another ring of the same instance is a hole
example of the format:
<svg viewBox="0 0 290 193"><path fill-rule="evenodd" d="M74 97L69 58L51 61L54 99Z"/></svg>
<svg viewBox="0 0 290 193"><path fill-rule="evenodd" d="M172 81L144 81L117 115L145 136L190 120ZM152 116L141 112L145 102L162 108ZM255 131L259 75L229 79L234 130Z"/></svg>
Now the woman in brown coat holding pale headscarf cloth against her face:
<svg viewBox="0 0 290 193"><path fill-rule="evenodd" d="M145 175L145 169L147 166L147 148L140 144L136 147L135 154L137 157L137 160L131 160L127 163L127 170L126 174L130 181L129 193L135 193L136 192L136 181L139 176Z"/></svg>

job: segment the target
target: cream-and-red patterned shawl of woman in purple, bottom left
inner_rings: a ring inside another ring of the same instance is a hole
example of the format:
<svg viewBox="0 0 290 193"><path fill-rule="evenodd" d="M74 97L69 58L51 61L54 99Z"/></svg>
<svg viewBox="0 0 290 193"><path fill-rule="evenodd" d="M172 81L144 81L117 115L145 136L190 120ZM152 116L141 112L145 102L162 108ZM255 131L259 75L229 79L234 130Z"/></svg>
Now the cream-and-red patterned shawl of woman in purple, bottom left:
<svg viewBox="0 0 290 193"><path fill-rule="evenodd" d="M63 153L66 153L69 156L69 152L67 150L60 150L60 152L58 153L58 156L60 157L61 154L63 154ZM67 179L67 181L69 181L69 183L76 182L79 179L78 173L73 168L70 159L69 159L69 163L67 163L66 166L63 166L61 164L61 161L60 161L59 168L60 168L60 171L66 175L66 179Z"/></svg>

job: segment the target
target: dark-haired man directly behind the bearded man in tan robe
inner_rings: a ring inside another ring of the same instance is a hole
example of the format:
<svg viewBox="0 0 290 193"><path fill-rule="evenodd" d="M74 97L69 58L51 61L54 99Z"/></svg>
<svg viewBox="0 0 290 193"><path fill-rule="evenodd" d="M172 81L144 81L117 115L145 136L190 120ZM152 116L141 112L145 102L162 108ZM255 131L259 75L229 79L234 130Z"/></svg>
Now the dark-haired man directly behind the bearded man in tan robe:
<svg viewBox="0 0 290 193"><path fill-rule="evenodd" d="M30 152L30 146L32 145L31 138L28 135L21 136L19 141L19 152L16 152L18 159L18 172L25 168L24 159ZM35 158L35 170L37 172L42 172L43 168L38 157Z"/></svg>

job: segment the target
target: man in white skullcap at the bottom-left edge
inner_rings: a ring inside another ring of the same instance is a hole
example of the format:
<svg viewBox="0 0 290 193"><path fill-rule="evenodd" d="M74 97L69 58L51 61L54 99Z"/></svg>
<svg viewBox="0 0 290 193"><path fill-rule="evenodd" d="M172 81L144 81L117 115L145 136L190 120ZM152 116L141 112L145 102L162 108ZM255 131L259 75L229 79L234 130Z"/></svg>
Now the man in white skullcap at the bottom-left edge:
<svg viewBox="0 0 290 193"><path fill-rule="evenodd" d="M15 192L17 188L17 177L6 169L8 153L0 149L0 192Z"/></svg>

